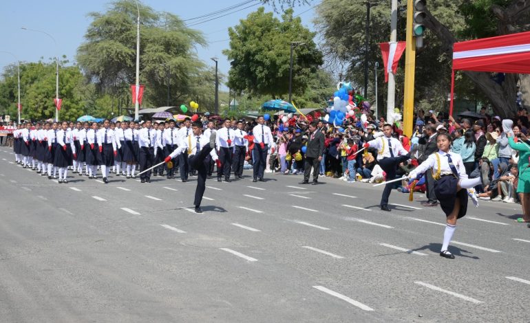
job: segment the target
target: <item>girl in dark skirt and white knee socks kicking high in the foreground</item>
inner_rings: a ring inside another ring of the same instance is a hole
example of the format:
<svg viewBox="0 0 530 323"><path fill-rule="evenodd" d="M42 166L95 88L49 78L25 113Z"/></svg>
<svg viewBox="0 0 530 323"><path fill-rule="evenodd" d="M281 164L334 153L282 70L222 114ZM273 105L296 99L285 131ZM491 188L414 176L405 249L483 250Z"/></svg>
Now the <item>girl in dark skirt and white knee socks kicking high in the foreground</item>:
<svg viewBox="0 0 530 323"><path fill-rule="evenodd" d="M447 218L447 225L443 234L443 245L440 256L454 259L454 255L447 251L456 230L456 220L465 216L467 212L467 190L484 182L483 177L468 179L462 157L452 153L451 137L447 133L436 136L438 153L433 153L409 174L414 179L428 170L432 170L434 192L440 201L440 206Z"/></svg>

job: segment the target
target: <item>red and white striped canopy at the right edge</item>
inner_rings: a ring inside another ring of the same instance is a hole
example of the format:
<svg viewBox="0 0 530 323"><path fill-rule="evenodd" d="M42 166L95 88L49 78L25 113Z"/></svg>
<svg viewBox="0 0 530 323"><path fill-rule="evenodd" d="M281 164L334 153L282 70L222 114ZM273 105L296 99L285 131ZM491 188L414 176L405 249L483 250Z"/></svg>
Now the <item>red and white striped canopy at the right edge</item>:
<svg viewBox="0 0 530 323"><path fill-rule="evenodd" d="M453 69L530 74L530 32L455 43Z"/></svg>

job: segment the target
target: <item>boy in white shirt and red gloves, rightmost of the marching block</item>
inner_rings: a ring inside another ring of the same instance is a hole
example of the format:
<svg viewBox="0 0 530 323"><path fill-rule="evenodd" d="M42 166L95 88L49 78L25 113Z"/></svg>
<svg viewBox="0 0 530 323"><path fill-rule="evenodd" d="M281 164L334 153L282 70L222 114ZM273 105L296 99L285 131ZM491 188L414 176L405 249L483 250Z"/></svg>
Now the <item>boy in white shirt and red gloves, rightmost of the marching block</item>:
<svg viewBox="0 0 530 323"><path fill-rule="evenodd" d="M257 126L255 126L252 130L255 143L255 159L253 161L253 182L258 181L258 179L259 181L264 181L263 173L265 171L268 148L275 147L273 133L271 131L271 128L265 126L265 119L263 118L263 115L259 115L256 121Z"/></svg>

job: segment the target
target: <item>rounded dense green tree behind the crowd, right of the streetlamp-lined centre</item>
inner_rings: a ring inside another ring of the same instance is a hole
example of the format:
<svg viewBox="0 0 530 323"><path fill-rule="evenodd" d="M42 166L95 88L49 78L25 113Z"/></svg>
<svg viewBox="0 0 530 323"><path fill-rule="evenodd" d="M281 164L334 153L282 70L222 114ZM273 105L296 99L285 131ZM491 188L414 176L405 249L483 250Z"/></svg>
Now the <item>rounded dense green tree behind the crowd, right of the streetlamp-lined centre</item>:
<svg viewBox="0 0 530 323"><path fill-rule="evenodd" d="M288 9L282 20L264 8L248 14L238 25L229 28L231 60L228 85L236 91L266 94L272 98L288 93L290 44L301 42L293 50L293 93L304 93L308 80L323 63L322 54L313 41L315 33L293 18Z"/></svg>

